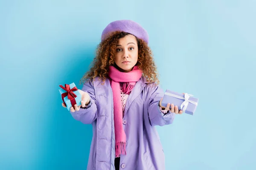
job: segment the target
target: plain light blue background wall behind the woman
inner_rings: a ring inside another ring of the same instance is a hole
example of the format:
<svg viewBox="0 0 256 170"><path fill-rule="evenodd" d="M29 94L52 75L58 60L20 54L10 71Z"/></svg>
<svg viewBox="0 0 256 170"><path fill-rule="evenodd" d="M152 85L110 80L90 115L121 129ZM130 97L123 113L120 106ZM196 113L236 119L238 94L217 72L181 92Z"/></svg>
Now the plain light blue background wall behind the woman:
<svg viewBox="0 0 256 170"><path fill-rule="evenodd" d="M253 0L0 1L0 169L82 170L91 125L61 106L58 85L88 71L108 23L149 34L160 83L199 98L194 116L157 127L166 170L256 169ZM253 78L254 77L254 78Z"/></svg>

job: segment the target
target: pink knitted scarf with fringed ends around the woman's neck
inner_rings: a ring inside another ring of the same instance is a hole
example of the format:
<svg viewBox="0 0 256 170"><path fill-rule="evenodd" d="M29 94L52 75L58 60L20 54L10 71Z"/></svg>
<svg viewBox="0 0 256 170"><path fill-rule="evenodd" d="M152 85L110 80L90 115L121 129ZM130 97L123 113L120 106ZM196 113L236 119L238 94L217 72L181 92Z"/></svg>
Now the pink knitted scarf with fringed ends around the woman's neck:
<svg viewBox="0 0 256 170"><path fill-rule="evenodd" d="M134 88L134 85L142 76L142 71L138 68L138 66L134 66L133 70L129 72L121 72L113 66L110 66L108 76L112 80L111 88L113 91L116 157L119 157L121 153L126 155L126 135L122 125L123 116L120 82L124 82L122 92L125 94L130 94L131 90Z"/></svg>

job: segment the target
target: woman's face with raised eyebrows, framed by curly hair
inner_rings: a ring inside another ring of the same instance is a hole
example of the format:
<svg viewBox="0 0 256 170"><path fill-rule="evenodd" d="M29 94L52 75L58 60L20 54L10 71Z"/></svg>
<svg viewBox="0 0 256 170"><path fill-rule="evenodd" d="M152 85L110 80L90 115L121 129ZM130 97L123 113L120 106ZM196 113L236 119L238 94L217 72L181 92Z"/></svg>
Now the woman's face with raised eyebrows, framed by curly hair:
<svg viewBox="0 0 256 170"><path fill-rule="evenodd" d="M120 38L116 45L114 61L119 71L129 72L138 61L138 44L134 35L126 35Z"/></svg>

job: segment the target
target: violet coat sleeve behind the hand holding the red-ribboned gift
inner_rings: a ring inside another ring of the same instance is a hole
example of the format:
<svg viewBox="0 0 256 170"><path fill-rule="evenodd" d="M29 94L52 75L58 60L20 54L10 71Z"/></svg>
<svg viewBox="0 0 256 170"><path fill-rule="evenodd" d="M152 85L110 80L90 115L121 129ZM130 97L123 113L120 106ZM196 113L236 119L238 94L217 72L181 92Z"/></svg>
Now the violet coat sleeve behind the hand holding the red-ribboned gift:
<svg viewBox="0 0 256 170"><path fill-rule="evenodd" d="M85 82L81 90L89 94L90 102L86 108L80 108L79 111L75 112L70 111L70 113L74 119L84 124L91 124L97 118L97 107L93 82L91 80Z"/></svg>

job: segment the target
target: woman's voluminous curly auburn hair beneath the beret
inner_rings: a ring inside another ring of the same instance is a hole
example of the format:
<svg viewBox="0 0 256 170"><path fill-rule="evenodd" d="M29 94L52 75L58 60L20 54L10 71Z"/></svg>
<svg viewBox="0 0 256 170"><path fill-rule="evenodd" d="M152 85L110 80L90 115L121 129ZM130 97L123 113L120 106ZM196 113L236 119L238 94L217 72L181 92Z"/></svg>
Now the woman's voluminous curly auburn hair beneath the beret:
<svg viewBox="0 0 256 170"><path fill-rule="evenodd" d="M114 57L116 54L116 45L120 38L125 37L129 33L122 31L115 31L109 34L109 36L97 45L96 57L91 62L90 71L84 74L80 83L83 83L89 79L95 79L99 77L103 81L108 77L109 66L114 65ZM136 65L143 71L143 77L145 77L148 83L159 84L157 67L154 63L154 58L151 49L147 43L137 38L138 44L138 61Z"/></svg>

